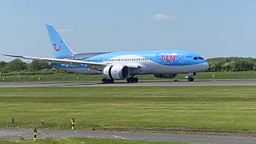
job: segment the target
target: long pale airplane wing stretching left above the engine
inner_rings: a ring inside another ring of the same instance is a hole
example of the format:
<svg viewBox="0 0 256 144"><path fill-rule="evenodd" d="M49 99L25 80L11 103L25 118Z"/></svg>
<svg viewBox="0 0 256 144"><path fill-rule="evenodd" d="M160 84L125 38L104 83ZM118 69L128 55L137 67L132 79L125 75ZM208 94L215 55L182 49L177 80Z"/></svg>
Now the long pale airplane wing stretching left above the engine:
<svg viewBox="0 0 256 144"><path fill-rule="evenodd" d="M49 63L59 63L59 64L66 64L66 65L73 65L73 66L80 66L81 64L86 64L86 68L92 69L92 70L103 70L105 66L113 65L113 63L106 63L106 62L84 62L81 60L75 60L75 59L69 59L69 58L42 58L42 57L28 57L28 56L21 56L21 55L9 55L9 54L2 54L4 56L8 57L14 57L14 58L24 58L24 59L30 59L30 60L42 60L44 62ZM127 65L128 67L132 69L139 68L138 65Z"/></svg>

